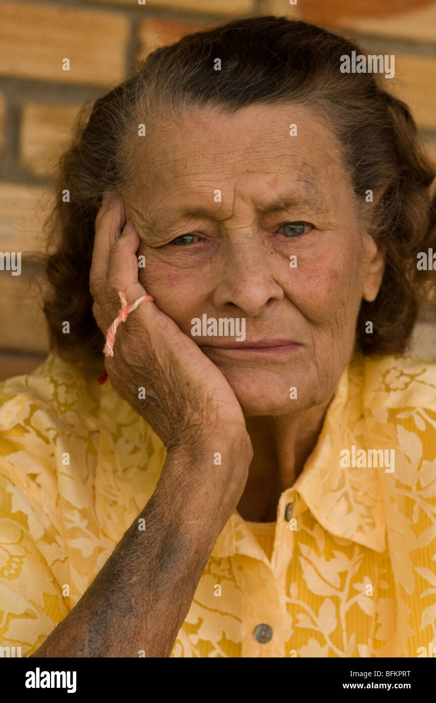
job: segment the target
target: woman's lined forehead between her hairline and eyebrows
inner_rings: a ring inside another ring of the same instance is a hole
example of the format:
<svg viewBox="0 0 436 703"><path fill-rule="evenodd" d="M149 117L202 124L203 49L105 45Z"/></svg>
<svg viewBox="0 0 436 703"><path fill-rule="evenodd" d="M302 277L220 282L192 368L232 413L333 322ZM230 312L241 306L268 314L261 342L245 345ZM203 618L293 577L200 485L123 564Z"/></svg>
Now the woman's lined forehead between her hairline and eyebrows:
<svg viewBox="0 0 436 703"><path fill-rule="evenodd" d="M193 110L181 120L150 122L145 136L134 139L134 180L150 194L180 188L206 193L238 181L280 189L289 180L316 194L324 183L345 177L333 132L299 105L251 105L234 115Z"/></svg>

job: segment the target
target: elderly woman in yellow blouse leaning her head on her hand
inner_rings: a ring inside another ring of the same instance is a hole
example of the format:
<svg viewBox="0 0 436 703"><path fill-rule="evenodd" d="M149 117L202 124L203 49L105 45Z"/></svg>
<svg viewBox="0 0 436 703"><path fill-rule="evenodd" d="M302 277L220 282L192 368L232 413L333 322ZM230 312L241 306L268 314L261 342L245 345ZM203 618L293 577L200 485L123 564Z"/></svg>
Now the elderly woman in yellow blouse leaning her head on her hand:
<svg viewBox="0 0 436 703"><path fill-rule="evenodd" d="M238 20L157 49L79 125L51 354L1 386L4 645L427 656L436 365L404 352L434 173L352 51Z"/></svg>

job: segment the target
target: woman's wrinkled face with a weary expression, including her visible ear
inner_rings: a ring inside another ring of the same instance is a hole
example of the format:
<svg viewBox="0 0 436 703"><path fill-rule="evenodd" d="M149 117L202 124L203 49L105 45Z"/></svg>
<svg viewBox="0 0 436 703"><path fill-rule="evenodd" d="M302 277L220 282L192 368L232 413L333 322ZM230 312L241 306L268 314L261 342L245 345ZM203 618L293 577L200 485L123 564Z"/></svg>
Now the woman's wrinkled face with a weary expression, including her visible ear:
<svg viewBox="0 0 436 703"><path fill-rule="evenodd" d="M371 205L357 202L329 127L292 103L190 110L147 123L130 166L126 214L159 309L220 368L246 415L324 404L352 354L362 297L373 300L383 276L365 231Z"/></svg>

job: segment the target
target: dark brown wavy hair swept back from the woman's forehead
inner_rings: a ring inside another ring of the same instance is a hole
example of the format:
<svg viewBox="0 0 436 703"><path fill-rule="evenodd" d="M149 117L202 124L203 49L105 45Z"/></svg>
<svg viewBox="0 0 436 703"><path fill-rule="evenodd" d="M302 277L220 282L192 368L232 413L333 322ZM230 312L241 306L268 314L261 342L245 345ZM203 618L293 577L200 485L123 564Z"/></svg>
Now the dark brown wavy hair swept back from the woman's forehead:
<svg viewBox="0 0 436 703"><path fill-rule="evenodd" d="M363 354L407 348L418 312L434 299L435 275L417 269L418 252L436 252L435 171L407 105L382 87L383 77L342 73L340 59L364 53L352 41L283 17L228 22L189 34L150 53L140 70L81 110L74 138L59 162L57 200L47 222L44 299L51 349L67 361L103 360L105 340L92 314L89 271L94 222L104 191L128 187L123 151L138 122L158 111L213 107L233 112L253 103L316 106L343 149L355 193L383 195L371 235L386 247L374 302L362 300L356 344ZM214 70L216 58L221 70ZM70 193L64 202L63 193ZM373 334L366 334L371 320ZM70 322L70 334L62 323Z"/></svg>

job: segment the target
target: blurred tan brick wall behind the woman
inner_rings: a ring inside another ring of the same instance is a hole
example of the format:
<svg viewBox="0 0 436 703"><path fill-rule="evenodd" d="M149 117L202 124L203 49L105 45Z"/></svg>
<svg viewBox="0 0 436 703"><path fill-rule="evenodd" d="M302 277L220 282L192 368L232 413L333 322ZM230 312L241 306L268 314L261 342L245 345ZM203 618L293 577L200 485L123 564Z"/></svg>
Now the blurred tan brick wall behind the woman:
<svg viewBox="0 0 436 703"><path fill-rule="evenodd" d="M386 84L411 106L436 162L434 1L0 0L0 252L22 252L19 276L0 270L0 380L26 373L48 352L41 270L26 251L41 249L51 169L79 107L131 75L155 47L248 14L303 18L355 37L369 53L395 54ZM436 359L430 314L416 325L411 352Z"/></svg>

